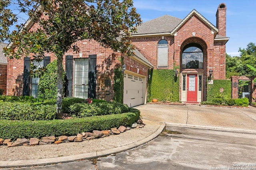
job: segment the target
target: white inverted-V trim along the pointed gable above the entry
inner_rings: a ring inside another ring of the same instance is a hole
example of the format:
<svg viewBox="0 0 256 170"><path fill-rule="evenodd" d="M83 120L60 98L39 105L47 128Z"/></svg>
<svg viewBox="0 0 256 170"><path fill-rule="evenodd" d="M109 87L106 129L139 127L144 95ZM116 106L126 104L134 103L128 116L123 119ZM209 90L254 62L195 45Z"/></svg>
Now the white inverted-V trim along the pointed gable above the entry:
<svg viewBox="0 0 256 170"><path fill-rule="evenodd" d="M184 25L184 23L186 23L186 21L192 16L192 15L196 15L201 21L203 21L204 23L206 23L206 25L208 25L209 27L211 27L212 32L213 33L218 33L218 28L216 28L214 25L212 25L212 23L210 23L210 21L206 20L206 18L204 18L199 12L197 12L195 9L192 10L185 18L184 20L182 20L172 31L171 31L171 35L174 35L177 30L182 27L182 25Z"/></svg>

